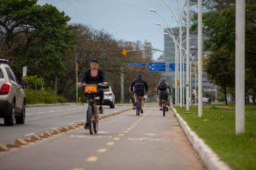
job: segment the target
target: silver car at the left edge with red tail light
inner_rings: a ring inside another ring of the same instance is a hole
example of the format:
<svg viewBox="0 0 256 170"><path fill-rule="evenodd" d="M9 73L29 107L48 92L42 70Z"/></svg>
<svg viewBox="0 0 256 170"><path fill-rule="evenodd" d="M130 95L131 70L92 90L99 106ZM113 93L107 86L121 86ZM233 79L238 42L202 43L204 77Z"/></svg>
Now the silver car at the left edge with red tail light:
<svg viewBox="0 0 256 170"><path fill-rule="evenodd" d="M4 118L4 125L24 124L26 98L21 85L26 81L19 84L7 62L0 59L0 118Z"/></svg>

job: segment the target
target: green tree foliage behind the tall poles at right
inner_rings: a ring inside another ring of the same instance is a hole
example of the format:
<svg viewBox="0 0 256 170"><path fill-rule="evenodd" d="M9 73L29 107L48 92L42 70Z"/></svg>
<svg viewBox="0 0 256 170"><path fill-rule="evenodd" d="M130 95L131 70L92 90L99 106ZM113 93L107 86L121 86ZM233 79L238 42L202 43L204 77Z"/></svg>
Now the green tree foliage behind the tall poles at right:
<svg viewBox="0 0 256 170"><path fill-rule="evenodd" d="M196 3L194 1L194 3ZM247 95L256 94L256 1L246 1L245 84ZM197 30L197 13L192 21ZM238 23L239 24L239 23ZM203 33L209 39L204 50L212 54L206 60L209 79L225 93L234 94L235 87L235 1L204 1Z"/></svg>

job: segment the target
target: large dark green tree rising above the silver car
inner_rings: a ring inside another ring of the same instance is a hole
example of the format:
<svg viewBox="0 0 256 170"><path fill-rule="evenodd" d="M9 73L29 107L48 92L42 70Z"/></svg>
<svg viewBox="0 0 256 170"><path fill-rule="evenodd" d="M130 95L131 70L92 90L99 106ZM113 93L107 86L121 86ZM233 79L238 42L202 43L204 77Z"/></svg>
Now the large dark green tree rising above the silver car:
<svg viewBox="0 0 256 170"><path fill-rule="evenodd" d="M9 56L15 72L26 65L28 74L38 74L49 84L65 71L62 59L73 37L69 20L50 4L37 5L37 0L0 1L1 57Z"/></svg>

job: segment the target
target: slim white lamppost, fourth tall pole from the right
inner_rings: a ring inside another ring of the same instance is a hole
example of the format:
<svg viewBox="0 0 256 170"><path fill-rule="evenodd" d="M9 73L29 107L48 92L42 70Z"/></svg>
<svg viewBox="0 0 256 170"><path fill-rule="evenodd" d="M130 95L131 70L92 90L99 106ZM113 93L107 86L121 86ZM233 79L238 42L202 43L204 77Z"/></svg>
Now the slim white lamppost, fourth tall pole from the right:
<svg viewBox="0 0 256 170"><path fill-rule="evenodd" d="M180 11L180 107L182 107L182 12Z"/></svg>

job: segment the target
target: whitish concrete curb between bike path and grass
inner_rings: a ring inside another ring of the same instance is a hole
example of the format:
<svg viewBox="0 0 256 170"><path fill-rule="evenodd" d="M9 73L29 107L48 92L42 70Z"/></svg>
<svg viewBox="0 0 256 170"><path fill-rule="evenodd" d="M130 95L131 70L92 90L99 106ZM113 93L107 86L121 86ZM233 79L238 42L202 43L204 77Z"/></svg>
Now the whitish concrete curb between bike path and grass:
<svg viewBox="0 0 256 170"><path fill-rule="evenodd" d="M199 138L197 134L190 129L189 125L187 125L187 122L183 120L175 108L172 107L172 110L174 111L178 122L182 126L183 131L187 135L189 142L197 151L202 161L204 161L204 164L206 164L207 168L210 170L231 170L231 168L225 162L221 161L218 155L213 152L213 150L204 142L204 140Z"/></svg>

